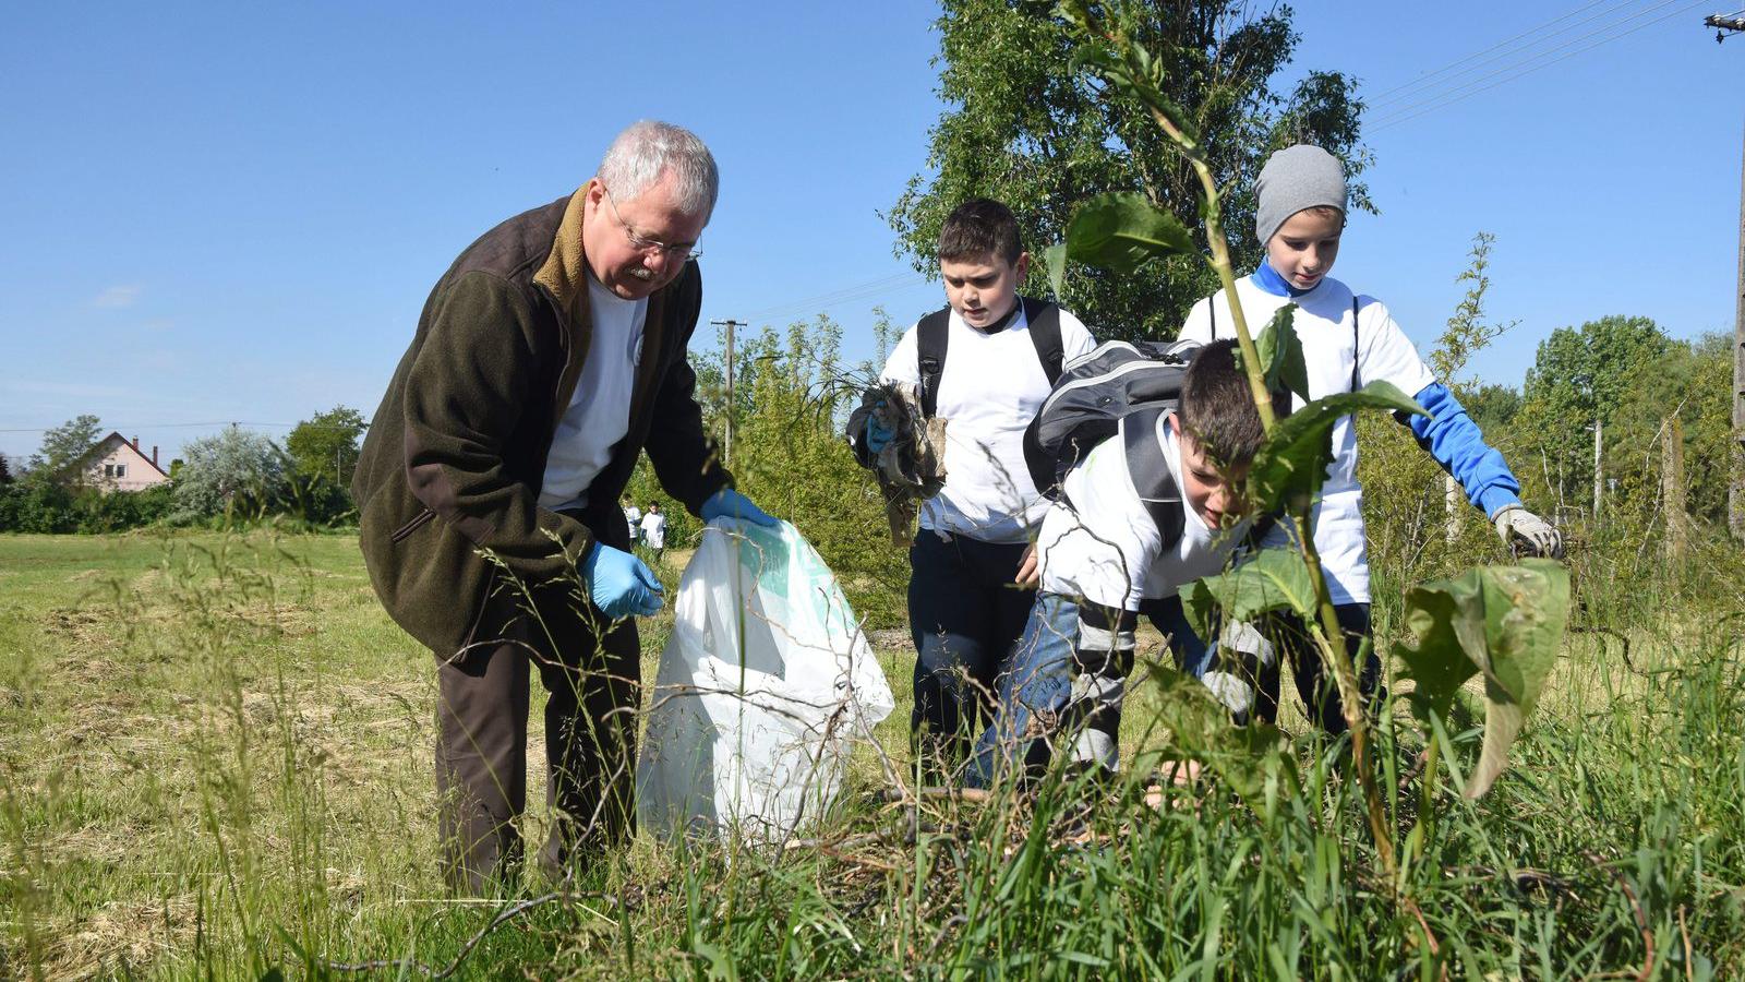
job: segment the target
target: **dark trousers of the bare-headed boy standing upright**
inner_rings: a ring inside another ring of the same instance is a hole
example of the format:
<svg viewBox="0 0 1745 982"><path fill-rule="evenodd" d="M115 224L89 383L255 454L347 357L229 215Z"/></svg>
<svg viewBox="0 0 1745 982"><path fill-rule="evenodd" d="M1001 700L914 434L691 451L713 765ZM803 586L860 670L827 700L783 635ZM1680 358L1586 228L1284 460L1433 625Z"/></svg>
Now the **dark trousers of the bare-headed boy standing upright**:
<svg viewBox="0 0 1745 982"><path fill-rule="evenodd" d="M1024 633L1035 591L1014 582L1024 545L921 529L909 549L918 751L955 767L991 718L995 676Z"/></svg>

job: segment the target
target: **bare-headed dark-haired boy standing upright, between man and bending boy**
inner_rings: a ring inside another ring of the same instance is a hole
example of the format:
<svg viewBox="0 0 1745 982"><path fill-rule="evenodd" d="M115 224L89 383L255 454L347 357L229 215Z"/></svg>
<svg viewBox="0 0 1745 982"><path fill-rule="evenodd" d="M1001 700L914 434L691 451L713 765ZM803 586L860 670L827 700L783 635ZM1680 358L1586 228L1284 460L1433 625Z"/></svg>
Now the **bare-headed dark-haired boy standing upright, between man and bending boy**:
<svg viewBox="0 0 1745 982"><path fill-rule="evenodd" d="M991 708L981 694L993 690L1035 596L1030 538L1047 500L1024 465L1024 428L1061 365L1096 346L1073 315L1017 295L1028 271L1005 204L960 204L939 231L948 308L911 327L881 372L914 384L927 416L948 419L946 486L923 505L909 549L911 723L928 764L948 769ZM864 465L890 439L876 419L850 435Z"/></svg>

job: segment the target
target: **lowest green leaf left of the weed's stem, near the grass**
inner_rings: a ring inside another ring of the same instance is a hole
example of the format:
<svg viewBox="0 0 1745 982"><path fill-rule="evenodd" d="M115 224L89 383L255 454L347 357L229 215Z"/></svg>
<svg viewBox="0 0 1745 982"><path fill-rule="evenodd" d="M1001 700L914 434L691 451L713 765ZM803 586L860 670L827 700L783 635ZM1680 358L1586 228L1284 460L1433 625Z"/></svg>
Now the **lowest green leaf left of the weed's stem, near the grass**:
<svg viewBox="0 0 1745 982"><path fill-rule="evenodd" d="M1169 729L1166 757L1204 764L1249 802L1269 788L1276 797L1297 790L1297 762L1283 753L1276 727L1232 727L1230 711L1206 685L1171 667L1152 666L1150 681L1157 683L1157 718Z"/></svg>

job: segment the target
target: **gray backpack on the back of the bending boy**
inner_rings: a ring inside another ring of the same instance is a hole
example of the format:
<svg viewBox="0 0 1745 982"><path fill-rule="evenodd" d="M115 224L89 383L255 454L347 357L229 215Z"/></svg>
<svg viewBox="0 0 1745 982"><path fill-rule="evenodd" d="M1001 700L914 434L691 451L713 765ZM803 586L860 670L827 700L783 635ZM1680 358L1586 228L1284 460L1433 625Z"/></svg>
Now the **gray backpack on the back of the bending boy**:
<svg viewBox="0 0 1745 982"><path fill-rule="evenodd" d="M1181 489L1157 444L1157 423L1181 400L1197 341L1105 341L1066 363L1024 430L1024 465L1037 491L1059 500L1066 472L1120 435L1127 474L1164 545L1181 538Z"/></svg>

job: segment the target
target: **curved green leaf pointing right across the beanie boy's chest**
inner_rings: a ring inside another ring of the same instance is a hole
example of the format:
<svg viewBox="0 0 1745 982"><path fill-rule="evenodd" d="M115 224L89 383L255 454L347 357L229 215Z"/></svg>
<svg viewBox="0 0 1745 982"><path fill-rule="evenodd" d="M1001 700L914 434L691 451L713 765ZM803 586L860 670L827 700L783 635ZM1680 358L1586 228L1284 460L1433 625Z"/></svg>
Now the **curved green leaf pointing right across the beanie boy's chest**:
<svg viewBox="0 0 1745 982"><path fill-rule="evenodd" d="M1424 416L1424 409L1389 383L1370 383L1358 391L1317 398L1291 412L1267 435L1248 470L1249 493L1260 512L1309 507L1326 465L1333 460L1333 425L1359 409L1389 409Z"/></svg>

